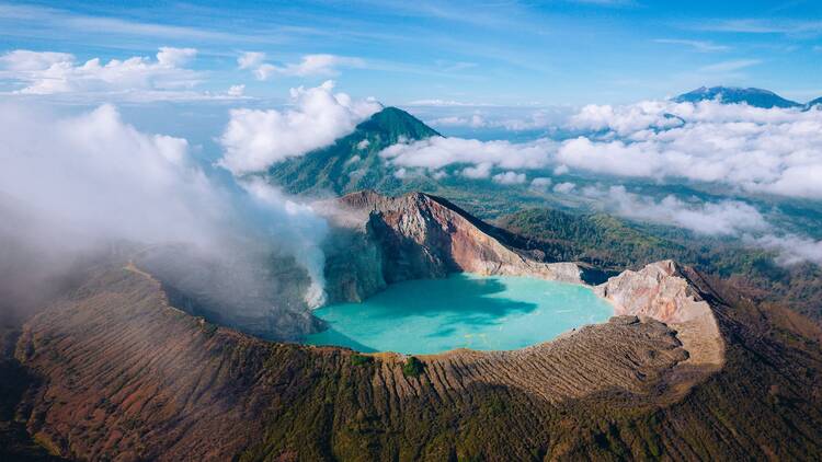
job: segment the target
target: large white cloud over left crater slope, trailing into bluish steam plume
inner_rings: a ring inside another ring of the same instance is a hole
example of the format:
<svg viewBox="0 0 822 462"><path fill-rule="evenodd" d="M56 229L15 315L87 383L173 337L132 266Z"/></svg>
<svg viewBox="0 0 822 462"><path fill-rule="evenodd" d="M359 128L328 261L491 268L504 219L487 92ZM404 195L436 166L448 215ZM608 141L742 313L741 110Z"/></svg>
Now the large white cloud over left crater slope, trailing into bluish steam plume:
<svg viewBox="0 0 822 462"><path fill-rule="evenodd" d="M127 241L185 244L215 265L290 256L311 278L307 303L323 301L326 221L265 184L220 186L185 139L141 132L112 105L65 116L16 104L0 105L0 206L14 217L0 227L4 255L23 246L54 265ZM3 281L23 277L21 268L43 269L31 266L4 261L0 269L12 277ZM238 284L253 296L271 270L237 273L248 275Z"/></svg>

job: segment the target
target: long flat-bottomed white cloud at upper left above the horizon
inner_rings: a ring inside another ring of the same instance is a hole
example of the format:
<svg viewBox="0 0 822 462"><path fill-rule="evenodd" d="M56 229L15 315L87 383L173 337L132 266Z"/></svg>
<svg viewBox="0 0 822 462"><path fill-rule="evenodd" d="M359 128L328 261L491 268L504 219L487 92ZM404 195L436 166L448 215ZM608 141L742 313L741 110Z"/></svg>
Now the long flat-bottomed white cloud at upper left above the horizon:
<svg viewBox="0 0 822 462"><path fill-rule="evenodd" d="M193 91L203 76L184 66L196 54L194 48L162 47L155 59L135 56L79 62L65 53L13 50L0 57L0 79L16 84L15 94L73 95L83 101L92 96L136 101L227 97Z"/></svg>

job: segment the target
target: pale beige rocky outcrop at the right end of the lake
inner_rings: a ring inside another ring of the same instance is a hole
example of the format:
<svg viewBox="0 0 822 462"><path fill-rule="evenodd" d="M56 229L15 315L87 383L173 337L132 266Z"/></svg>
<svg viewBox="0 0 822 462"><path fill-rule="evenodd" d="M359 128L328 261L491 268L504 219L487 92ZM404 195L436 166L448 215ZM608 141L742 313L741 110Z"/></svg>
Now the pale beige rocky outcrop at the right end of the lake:
<svg viewBox="0 0 822 462"><path fill-rule="evenodd" d="M673 261L626 270L595 288L619 314L652 317L677 331L688 363L721 367L724 342L711 305Z"/></svg>

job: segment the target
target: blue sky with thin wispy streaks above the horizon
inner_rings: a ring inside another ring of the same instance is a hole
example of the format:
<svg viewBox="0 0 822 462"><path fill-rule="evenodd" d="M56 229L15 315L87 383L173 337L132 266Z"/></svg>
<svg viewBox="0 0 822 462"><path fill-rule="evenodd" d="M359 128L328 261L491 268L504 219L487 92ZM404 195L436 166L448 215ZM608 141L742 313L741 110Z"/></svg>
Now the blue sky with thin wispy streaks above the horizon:
<svg viewBox="0 0 822 462"><path fill-rule="evenodd" d="M0 3L0 51L69 53L82 63L191 47L197 90L246 85L259 99L329 78L396 105L628 103L701 84L822 95L819 1L222 3ZM239 69L247 51L279 70L259 80L254 67ZM298 69L306 55L332 58L312 73Z"/></svg>

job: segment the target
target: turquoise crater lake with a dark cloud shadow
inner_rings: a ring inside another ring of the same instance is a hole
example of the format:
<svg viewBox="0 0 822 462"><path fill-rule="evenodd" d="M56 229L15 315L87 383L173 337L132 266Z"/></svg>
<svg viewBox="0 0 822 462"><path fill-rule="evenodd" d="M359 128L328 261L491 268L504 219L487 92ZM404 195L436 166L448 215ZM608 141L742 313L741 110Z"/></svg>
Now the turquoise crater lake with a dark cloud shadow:
<svg viewBox="0 0 822 462"><path fill-rule="evenodd" d="M307 344L424 355L523 348L603 322L614 309L581 285L463 273L395 284L362 303L313 313L329 328L307 336Z"/></svg>

